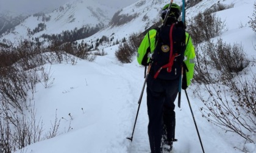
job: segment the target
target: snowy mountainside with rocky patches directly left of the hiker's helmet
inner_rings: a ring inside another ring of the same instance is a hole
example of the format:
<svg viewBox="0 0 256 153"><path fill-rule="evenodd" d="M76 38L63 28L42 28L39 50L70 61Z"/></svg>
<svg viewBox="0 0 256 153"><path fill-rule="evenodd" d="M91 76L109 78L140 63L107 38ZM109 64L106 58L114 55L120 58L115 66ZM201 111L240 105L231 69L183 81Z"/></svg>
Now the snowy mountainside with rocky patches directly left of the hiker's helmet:
<svg viewBox="0 0 256 153"><path fill-rule="evenodd" d="M96 41L96 39L105 35L109 38L114 36L115 40L118 39L120 41L123 38L128 38L132 33L144 32L152 25L161 22L160 10L162 9L163 5L167 3L168 1L165 0L137 1L134 4L116 12L108 27L101 30L101 32L98 32L83 40L85 42ZM181 1L176 3L180 5L182 4ZM116 20L123 22L118 22ZM124 22L124 20L127 22Z"/></svg>

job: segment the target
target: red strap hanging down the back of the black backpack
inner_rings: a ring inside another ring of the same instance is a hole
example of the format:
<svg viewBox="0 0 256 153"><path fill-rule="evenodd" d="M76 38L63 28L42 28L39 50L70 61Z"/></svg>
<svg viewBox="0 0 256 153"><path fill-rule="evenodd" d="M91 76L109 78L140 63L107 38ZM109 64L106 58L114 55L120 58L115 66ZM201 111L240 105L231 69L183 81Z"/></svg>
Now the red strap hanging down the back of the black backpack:
<svg viewBox="0 0 256 153"><path fill-rule="evenodd" d="M171 25L171 28L170 28L170 32L169 32L169 38L170 38L170 55L169 55L169 63L165 64L164 66L160 67L157 72L155 73L154 75L154 78L157 78L158 74L160 73L160 71L163 69L163 68L167 68L167 72L171 72L171 68L172 68L172 65L173 65L173 61L175 59L175 57L177 56L177 53L176 55L172 56L172 53L173 53L173 43L172 43L172 29L174 27L174 24Z"/></svg>

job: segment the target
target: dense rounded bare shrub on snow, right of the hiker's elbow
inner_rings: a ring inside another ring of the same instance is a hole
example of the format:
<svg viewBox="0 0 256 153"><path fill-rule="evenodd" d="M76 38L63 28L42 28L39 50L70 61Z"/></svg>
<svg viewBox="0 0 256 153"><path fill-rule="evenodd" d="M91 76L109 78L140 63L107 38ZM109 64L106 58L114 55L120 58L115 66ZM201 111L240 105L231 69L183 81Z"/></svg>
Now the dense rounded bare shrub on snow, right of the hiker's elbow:
<svg viewBox="0 0 256 153"><path fill-rule="evenodd" d="M199 49L196 49L194 76L197 83L212 84L219 80L230 80L249 65L241 44L231 46L218 39L216 44L208 41L200 45ZM215 71L211 72L213 69Z"/></svg>

